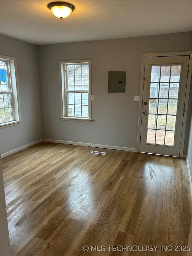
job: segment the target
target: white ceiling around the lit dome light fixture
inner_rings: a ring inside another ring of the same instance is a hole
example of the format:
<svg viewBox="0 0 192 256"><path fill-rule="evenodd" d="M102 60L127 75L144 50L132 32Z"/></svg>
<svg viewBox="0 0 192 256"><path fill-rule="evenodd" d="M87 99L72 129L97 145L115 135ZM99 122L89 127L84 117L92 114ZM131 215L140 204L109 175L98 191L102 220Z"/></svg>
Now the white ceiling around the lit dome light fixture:
<svg viewBox="0 0 192 256"><path fill-rule="evenodd" d="M0 0L0 33L32 44L92 41L191 31L192 1L64 0L75 6L60 20L52 0Z"/></svg>

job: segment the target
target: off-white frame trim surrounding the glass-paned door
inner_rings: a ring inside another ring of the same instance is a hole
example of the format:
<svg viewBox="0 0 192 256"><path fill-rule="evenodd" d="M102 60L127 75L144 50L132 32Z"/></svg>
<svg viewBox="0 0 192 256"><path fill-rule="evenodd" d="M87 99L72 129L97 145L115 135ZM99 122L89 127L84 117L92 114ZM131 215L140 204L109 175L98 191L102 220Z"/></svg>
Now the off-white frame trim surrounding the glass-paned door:
<svg viewBox="0 0 192 256"><path fill-rule="evenodd" d="M189 58L189 72L187 75L187 87L185 94L185 112L183 116L183 125L182 125L182 136L181 136L181 149L179 157L183 157L184 150L184 139L185 139L185 130L187 123L187 110L189 104L189 92L190 92L190 84L191 84L191 69L192 69L192 52L174 52L174 53L143 53L141 59L141 79L140 79L140 102L139 102L139 119L138 119L138 133L137 133L137 152L140 152L140 142L141 142L141 120L142 120L142 107L143 107L143 87L144 87L144 74L145 74L145 61L147 57L169 57L169 56L190 56Z"/></svg>

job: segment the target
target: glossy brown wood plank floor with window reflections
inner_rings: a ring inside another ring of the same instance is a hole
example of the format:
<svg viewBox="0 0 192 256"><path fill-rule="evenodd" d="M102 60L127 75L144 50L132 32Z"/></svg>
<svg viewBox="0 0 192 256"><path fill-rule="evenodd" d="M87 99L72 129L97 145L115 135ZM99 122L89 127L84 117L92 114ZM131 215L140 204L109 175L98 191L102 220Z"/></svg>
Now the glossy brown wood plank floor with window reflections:
<svg viewBox="0 0 192 256"><path fill-rule="evenodd" d="M12 256L186 255L185 159L42 142L2 165Z"/></svg>

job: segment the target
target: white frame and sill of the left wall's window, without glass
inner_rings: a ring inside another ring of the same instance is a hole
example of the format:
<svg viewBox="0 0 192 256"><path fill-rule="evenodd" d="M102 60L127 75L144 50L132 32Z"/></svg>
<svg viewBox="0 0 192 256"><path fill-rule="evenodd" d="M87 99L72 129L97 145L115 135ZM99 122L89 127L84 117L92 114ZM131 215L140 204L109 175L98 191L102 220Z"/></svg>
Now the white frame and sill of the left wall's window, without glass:
<svg viewBox="0 0 192 256"><path fill-rule="evenodd" d="M12 121L7 121L0 123L0 129L6 128L13 125L21 124L21 113L19 104L19 86L17 77L17 65L16 58L0 55L0 60L7 63L7 82L10 91L4 91L4 93L9 93L11 97L11 109L12 109Z"/></svg>

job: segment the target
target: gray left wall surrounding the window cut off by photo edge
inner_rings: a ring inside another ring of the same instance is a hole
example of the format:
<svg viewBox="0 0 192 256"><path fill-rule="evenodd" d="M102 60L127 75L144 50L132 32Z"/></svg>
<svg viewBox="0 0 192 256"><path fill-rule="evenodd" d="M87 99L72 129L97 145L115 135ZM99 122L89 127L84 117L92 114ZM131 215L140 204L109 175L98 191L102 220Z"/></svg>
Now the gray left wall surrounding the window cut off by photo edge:
<svg viewBox="0 0 192 256"><path fill-rule="evenodd" d="M42 117L37 46L1 35L0 54L16 57L23 120L20 125L0 129L3 154L41 139Z"/></svg>

